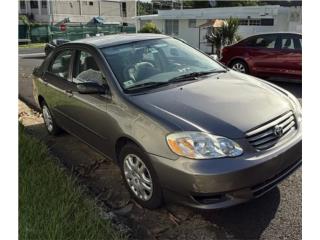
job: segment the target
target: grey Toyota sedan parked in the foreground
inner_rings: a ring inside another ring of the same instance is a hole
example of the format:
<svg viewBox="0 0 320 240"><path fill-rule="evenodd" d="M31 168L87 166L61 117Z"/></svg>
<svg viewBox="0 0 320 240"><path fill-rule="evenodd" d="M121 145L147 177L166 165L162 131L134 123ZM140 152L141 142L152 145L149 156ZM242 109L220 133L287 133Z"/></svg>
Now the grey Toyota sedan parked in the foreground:
<svg viewBox="0 0 320 240"><path fill-rule="evenodd" d="M232 206L301 164L298 100L182 41L122 34L53 51L33 79L48 132L64 129L114 160L144 207Z"/></svg>

